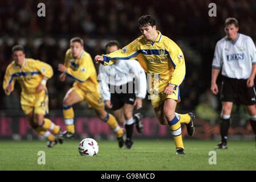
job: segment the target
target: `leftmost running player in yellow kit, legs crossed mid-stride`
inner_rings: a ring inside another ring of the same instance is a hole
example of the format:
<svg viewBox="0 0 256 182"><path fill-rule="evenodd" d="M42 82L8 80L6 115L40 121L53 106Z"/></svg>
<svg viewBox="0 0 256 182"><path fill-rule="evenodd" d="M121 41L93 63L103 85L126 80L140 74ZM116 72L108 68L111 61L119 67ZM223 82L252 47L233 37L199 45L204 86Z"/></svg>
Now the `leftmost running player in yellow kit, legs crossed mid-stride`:
<svg viewBox="0 0 256 182"><path fill-rule="evenodd" d="M21 107L30 126L40 135L47 137L47 147L53 147L58 141L55 135L61 134L61 128L50 119L44 118L48 114L48 92L46 82L52 77L50 65L34 59L26 58L23 46L17 45L12 49L12 61L5 73L3 90L7 96L14 90L15 81L21 85ZM50 133L49 130L52 130Z"/></svg>

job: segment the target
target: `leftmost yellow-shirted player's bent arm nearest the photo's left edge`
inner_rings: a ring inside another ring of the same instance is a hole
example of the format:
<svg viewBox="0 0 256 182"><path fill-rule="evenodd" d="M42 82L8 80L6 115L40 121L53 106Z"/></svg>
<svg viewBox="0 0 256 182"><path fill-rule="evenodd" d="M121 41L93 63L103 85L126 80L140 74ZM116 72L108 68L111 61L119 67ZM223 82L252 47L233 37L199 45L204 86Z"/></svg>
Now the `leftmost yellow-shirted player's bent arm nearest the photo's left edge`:
<svg viewBox="0 0 256 182"><path fill-rule="evenodd" d="M9 96L11 92L14 90L15 78L11 75L10 66L7 67L5 72L5 77L3 78L3 90L5 90L5 94Z"/></svg>

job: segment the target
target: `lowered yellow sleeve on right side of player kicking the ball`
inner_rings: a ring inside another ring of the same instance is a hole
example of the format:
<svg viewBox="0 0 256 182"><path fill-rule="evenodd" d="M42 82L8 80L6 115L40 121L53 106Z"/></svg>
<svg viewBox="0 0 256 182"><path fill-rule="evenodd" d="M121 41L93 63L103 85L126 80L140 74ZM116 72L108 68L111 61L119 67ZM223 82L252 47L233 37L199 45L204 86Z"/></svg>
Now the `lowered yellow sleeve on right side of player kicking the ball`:
<svg viewBox="0 0 256 182"><path fill-rule="evenodd" d="M170 43L168 46L170 61L173 65L173 73L170 77L169 84L174 84L174 88L179 86L185 78L186 67L184 55L175 43Z"/></svg>

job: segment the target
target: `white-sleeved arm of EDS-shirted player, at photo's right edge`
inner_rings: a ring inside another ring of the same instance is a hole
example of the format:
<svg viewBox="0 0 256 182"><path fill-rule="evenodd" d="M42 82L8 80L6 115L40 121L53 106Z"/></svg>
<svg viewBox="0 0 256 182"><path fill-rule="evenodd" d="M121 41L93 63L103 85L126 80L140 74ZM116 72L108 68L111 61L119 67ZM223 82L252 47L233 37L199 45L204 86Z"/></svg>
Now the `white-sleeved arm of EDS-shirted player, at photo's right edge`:
<svg viewBox="0 0 256 182"><path fill-rule="evenodd" d="M251 75L247 79L247 87L252 87L254 85L254 78L256 75L256 48L252 39L249 39L248 41L248 51L250 51L250 59L253 66L251 68Z"/></svg>

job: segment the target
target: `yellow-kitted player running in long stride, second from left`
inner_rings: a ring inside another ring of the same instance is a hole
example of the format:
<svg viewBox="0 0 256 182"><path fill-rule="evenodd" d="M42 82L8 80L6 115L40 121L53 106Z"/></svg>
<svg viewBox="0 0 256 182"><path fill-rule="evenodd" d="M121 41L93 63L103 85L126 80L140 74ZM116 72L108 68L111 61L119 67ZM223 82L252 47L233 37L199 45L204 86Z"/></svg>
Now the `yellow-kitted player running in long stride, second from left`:
<svg viewBox="0 0 256 182"><path fill-rule="evenodd" d="M59 64L59 71L62 72L60 80L64 81L66 76L75 80L73 87L68 90L63 100L63 115L67 128L63 137L74 137L75 126L72 105L86 100L96 111L97 116L116 133L119 147L122 147L124 144L123 129L118 125L115 117L104 109L104 101L100 96L94 62L90 54L84 51L83 45L81 38L72 38L70 49L66 52L64 65Z"/></svg>

